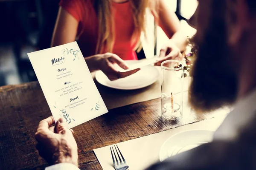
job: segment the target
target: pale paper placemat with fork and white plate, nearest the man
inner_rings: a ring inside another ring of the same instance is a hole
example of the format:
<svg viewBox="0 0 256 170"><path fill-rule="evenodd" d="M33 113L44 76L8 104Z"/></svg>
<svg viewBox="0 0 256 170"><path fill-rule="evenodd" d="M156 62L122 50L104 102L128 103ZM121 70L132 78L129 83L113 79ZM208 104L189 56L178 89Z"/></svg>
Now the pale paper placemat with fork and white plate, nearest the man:
<svg viewBox="0 0 256 170"><path fill-rule="evenodd" d="M227 113L226 111L222 111ZM212 142L226 116L177 127L149 136L94 149L103 170L141 170L178 153Z"/></svg>

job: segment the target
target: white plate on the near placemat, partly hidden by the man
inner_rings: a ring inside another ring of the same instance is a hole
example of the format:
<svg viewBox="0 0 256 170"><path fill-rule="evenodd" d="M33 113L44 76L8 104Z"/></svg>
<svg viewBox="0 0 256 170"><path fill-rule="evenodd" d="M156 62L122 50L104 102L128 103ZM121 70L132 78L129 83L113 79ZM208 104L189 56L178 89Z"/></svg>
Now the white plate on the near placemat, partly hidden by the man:
<svg viewBox="0 0 256 170"><path fill-rule="evenodd" d="M187 130L169 137L160 149L160 161L212 142L213 133L211 130Z"/></svg>

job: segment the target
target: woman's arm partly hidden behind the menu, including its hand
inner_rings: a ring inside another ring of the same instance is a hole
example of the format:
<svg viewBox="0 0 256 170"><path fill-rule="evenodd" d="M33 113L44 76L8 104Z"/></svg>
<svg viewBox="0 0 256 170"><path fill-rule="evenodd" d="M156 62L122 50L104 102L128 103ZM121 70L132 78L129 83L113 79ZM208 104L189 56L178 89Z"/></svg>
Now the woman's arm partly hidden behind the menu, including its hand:
<svg viewBox="0 0 256 170"><path fill-rule="evenodd" d="M51 46L54 47L75 41L78 24L79 22L70 13L64 10L64 8L60 7L52 36ZM125 73L117 71L114 67L114 63L123 69L128 69L128 66L116 54L97 54L90 57L85 57L84 59L90 72L102 70L110 80L127 77L139 71L139 69L127 71Z"/></svg>

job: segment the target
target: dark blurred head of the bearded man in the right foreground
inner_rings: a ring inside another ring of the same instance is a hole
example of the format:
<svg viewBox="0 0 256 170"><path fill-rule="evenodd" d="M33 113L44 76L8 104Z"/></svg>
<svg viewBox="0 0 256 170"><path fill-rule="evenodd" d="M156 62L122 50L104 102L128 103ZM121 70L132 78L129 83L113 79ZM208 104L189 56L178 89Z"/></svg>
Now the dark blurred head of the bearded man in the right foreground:
<svg viewBox="0 0 256 170"><path fill-rule="evenodd" d="M256 76L256 0L198 2L194 20L198 31L193 38L198 53L189 102L201 112L232 104L244 86L242 81L247 81L242 74L251 70ZM248 65L248 60L253 64Z"/></svg>

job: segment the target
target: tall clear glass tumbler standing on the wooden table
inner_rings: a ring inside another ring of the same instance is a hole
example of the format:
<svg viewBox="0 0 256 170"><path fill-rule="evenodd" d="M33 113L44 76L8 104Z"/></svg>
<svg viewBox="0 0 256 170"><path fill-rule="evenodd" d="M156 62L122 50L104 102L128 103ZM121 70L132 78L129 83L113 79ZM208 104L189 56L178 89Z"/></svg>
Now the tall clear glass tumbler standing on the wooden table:
<svg viewBox="0 0 256 170"><path fill-rule="evenodd" d="M166 60L161 64L162 82L162 117L179 119L183 110L183 62Z"/></svg>

